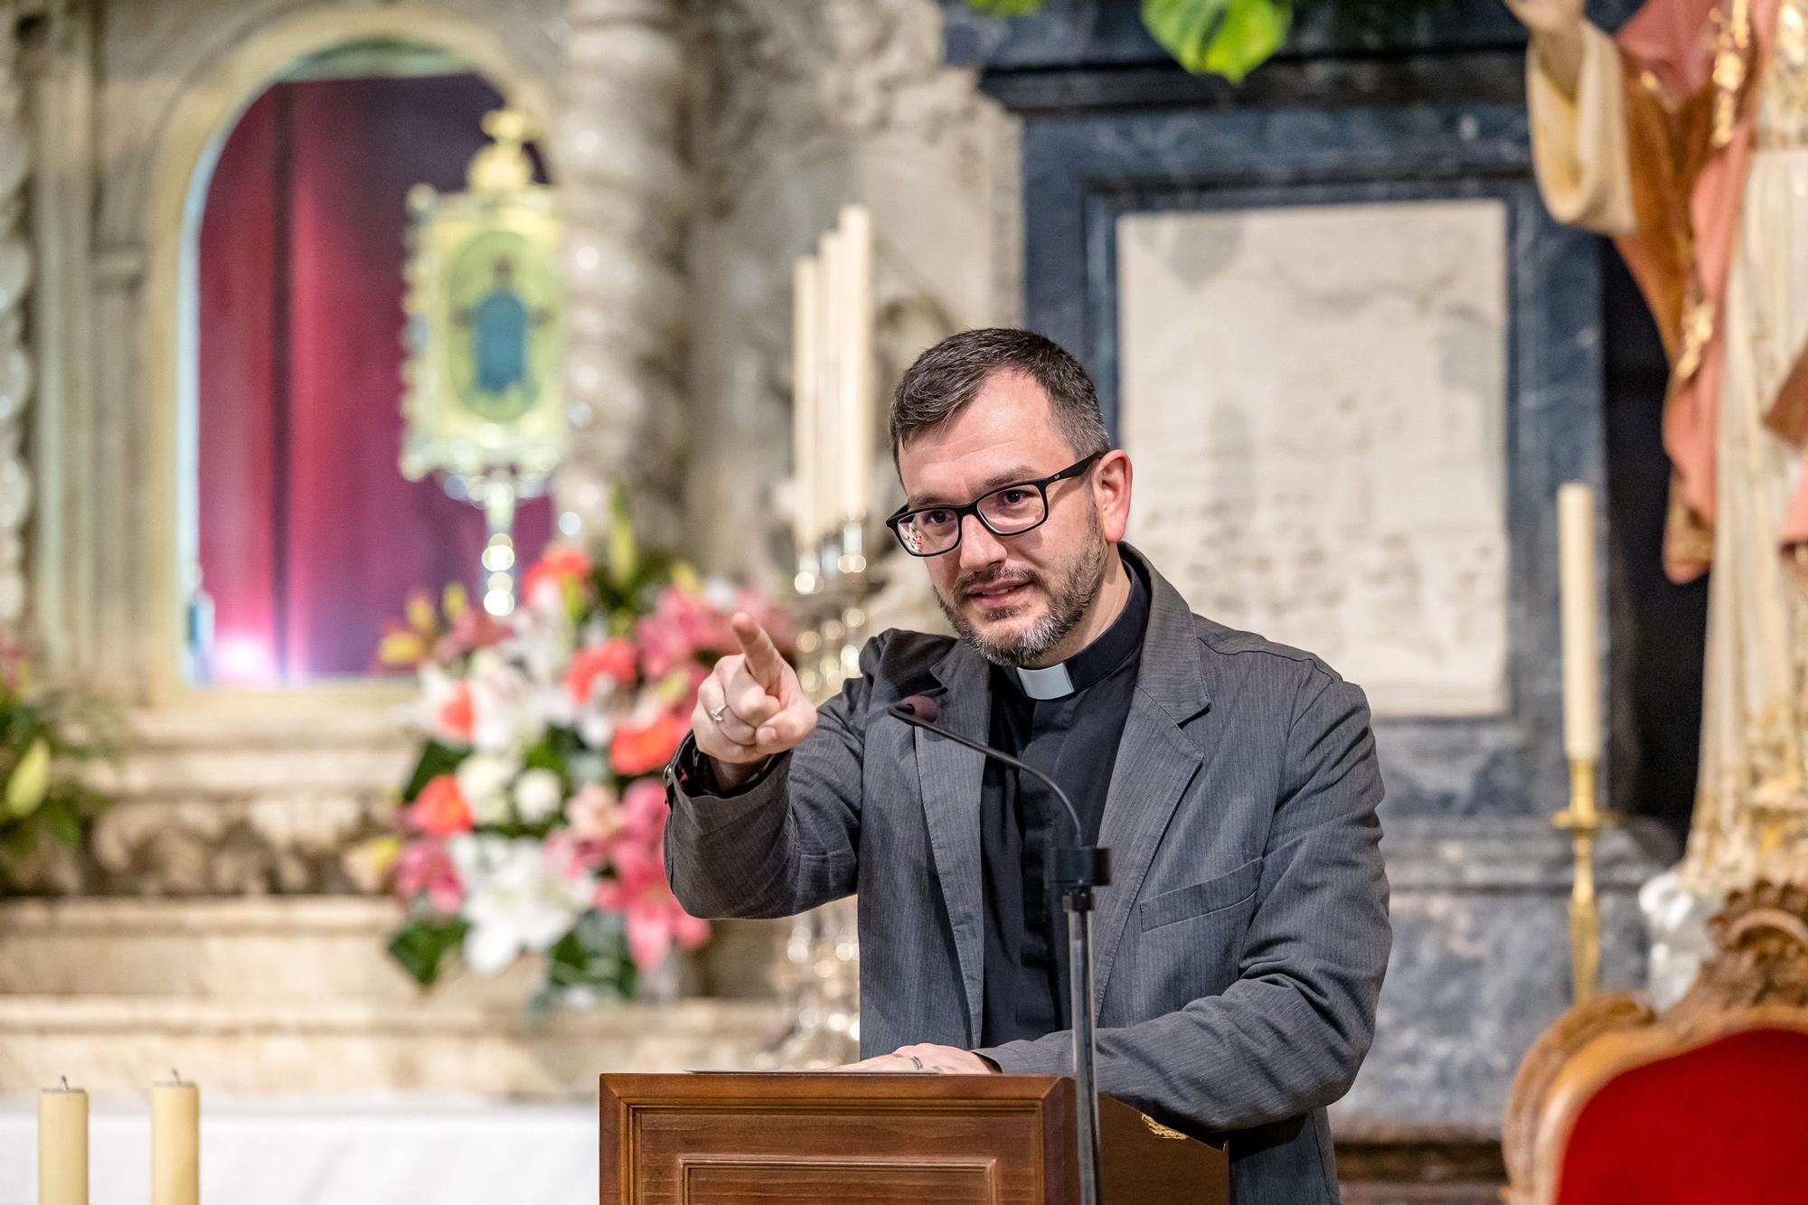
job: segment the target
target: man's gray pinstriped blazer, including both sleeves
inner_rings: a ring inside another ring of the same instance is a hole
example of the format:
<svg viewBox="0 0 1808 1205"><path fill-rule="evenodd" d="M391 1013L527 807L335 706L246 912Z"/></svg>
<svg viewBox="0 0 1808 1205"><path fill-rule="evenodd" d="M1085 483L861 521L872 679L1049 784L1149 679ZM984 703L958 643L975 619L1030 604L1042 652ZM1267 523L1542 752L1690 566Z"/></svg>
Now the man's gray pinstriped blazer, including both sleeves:
<svg viewBox="0 0 1808 1205"><path fill-rule="evenodd" d="M1316 657L1150 583L1099 834L1099 1091L1228 1140L1238 1205L1336 1201L1325 1105L1369 1051L1390 944L1369 706ZM723 798L669 776L665 865L692 914L859 892L862 1055L978 1042L982 758L886 707L933 695L942 726L985 740L987 680L949 637L884 631L758 783ZM982 1053L1072 1073L1065 1031Z"/></svg>

